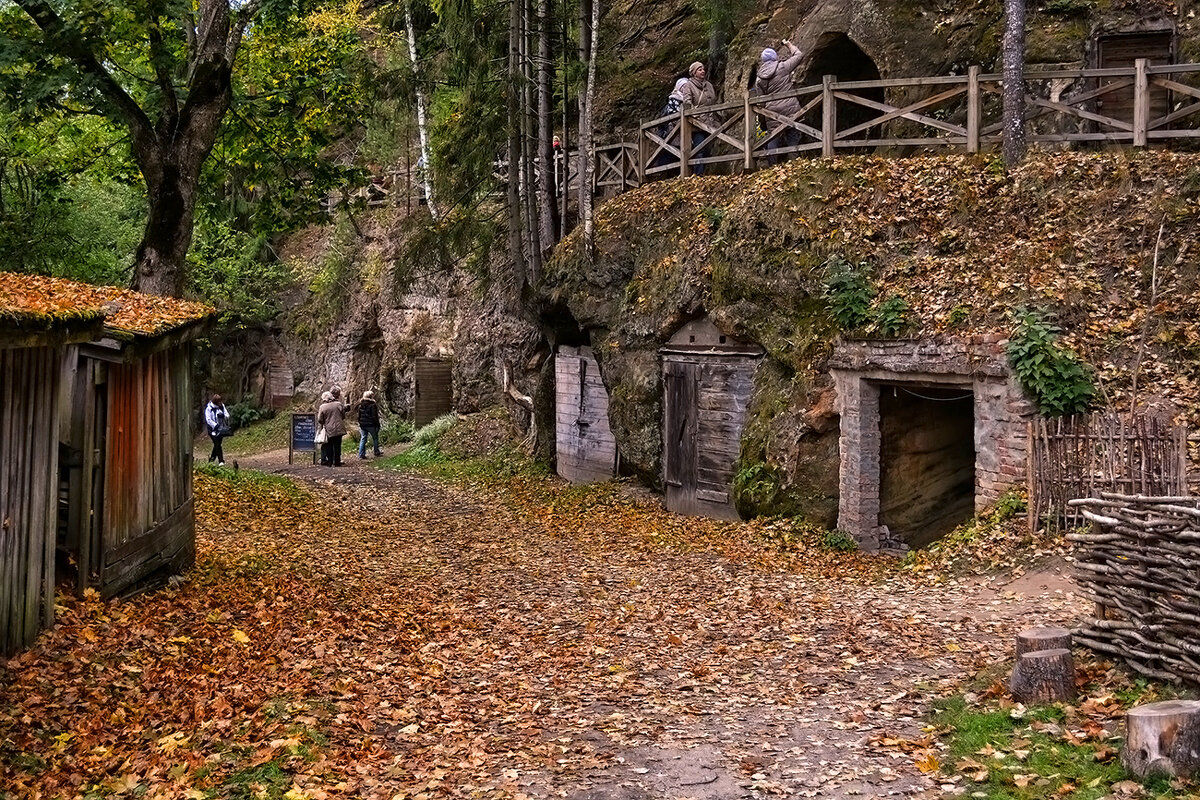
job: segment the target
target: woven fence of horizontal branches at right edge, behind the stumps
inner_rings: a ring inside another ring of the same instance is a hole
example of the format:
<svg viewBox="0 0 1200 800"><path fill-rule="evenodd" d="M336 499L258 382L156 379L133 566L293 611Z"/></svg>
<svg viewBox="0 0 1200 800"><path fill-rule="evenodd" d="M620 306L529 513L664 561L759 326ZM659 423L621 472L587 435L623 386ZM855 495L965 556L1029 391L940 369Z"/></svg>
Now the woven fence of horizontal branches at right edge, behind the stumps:
<svg viewBox="0 0 1200 800"><path fill-rule="evenodd" d="M1200 684L1198 499L1102 494L1070 505L1092 523L1067 539L1097 616L1075 640L1144 675Z"/></svg>

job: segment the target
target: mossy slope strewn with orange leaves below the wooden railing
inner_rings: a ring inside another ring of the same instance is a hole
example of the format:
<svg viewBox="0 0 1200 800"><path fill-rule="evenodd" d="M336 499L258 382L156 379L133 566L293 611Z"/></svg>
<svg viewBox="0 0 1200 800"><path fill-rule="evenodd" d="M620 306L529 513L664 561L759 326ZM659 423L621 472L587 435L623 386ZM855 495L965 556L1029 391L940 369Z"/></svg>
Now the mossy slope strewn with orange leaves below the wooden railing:
<svg viewBox="0 0 1200 800"><path fill-rule="evenodd" d="M1198 237L1200 155L1040 155L1012 173L984 157L793 161L606 204L595 261L577 235L566 240L542 297L590 335L618 441L647 474L658 463L655 350L685 319L709 313L767 348L775 378L756 408L803 415L817 403L838 332L832 258L865 261L880 297L902 296L911 336L1004 333L1012 309L1048 309L1097 367L1102 393L1128 404L1138 371L1139 399L1174 403L1196 425Z"/></svg>

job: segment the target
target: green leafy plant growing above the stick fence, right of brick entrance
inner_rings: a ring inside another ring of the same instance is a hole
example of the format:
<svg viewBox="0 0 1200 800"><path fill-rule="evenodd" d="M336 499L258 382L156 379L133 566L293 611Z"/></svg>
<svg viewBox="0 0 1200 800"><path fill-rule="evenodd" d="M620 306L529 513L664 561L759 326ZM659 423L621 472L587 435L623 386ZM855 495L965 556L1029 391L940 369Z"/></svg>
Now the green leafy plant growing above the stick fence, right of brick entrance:
<svg viewBox="0 0 1200 800"><path fill-rule="evenodd" d="M1048 416L1080 414L1096 399L1091 369L1058 343L1060 329L1043 312L1014 312L1016 326L1008 343L1008 361L1021 386Z"/></svg>

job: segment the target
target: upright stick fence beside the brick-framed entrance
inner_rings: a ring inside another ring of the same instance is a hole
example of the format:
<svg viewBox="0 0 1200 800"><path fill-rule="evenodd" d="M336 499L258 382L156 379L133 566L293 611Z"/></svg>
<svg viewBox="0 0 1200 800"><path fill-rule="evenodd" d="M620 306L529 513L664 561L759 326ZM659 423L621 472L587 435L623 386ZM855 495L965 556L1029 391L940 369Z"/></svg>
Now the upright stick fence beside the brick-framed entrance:
<svg viewBox="0 0 1200 800"><path fill-rule="evenodd" d="M1078 498L1188 493L1187 428L1152 416L1096 413L1028 425L1030 527L1084 524Z"/></svg>

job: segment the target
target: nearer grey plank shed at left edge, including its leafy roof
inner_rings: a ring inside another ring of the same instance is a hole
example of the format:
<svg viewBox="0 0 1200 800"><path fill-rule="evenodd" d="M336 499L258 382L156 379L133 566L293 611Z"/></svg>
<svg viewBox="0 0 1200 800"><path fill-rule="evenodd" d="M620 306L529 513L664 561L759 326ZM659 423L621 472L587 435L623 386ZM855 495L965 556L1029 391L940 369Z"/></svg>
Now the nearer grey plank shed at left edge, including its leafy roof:
<svg viewBox="0 0 1200 800"><path fill-rule="evenodd" d="M54 621L62 362L104 312L25 290L0 272L0 654ZM19 277L19 276L16 276Z"/></svg>

